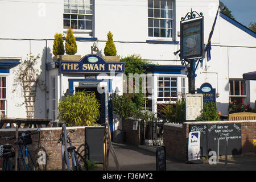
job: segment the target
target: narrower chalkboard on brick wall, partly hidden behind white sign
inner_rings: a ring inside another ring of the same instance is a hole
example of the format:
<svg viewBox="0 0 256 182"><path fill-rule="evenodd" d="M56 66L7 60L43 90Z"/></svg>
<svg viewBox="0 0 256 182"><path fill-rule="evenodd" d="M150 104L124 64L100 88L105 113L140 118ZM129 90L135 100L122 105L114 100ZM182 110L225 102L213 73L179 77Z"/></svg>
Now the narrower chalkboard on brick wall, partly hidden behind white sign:
<svg viewBox="0 0 256 182"><path fill-rule="evenodd" d="M189 133L200 131L200 156L207 155L207 125L189 125Z"/></svg>

